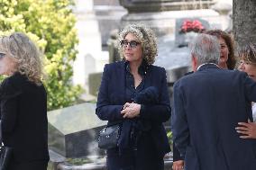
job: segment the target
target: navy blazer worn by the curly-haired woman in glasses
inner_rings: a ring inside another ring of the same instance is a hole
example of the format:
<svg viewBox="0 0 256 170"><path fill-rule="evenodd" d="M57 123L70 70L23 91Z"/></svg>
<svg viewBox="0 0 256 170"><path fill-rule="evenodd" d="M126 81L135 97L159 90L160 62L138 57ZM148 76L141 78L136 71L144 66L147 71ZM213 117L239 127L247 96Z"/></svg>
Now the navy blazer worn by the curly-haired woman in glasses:
<svg viewBox="0 0 256 170"><path fill-rule="evenodd" d="M170 117L170 102L166 71L163 67L149 66L145 76L144 88L154 86L158 89L159 103L142 104L139 119L151 121L151 135L155 147L163 157L170 151L169 141L162 122ZM106 64L96 103L96 115L108 121L123 120L121 111L125 101L125 63L123 61Z"/></svg>

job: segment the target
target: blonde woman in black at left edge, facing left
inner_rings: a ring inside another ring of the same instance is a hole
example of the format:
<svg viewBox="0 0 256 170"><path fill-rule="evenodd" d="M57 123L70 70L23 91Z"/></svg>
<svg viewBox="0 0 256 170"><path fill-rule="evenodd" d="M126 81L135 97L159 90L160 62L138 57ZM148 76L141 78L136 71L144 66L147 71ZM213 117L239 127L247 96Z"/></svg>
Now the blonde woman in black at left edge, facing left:
<svg viewBox="0 0 256 170"><path fill-rule="evenodd" d="M46 91L40 52L25 34L0 37L0 114L12 148L8 170L46 170L49 161Z"/></svg>

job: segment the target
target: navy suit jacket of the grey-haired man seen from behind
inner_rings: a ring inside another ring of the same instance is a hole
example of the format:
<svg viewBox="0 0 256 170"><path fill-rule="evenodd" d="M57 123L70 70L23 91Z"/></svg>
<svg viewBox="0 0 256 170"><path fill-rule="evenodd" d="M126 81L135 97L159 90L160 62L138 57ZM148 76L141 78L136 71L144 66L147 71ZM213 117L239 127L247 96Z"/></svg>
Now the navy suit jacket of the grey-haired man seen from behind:
<svg viewBox="0 0 256 170"><path fill-rule="evenodd" d="M245 73L206 64L174 85L172 131L186 170L256 169L256 140L235 127L251 119L256 83Z"/></svg>

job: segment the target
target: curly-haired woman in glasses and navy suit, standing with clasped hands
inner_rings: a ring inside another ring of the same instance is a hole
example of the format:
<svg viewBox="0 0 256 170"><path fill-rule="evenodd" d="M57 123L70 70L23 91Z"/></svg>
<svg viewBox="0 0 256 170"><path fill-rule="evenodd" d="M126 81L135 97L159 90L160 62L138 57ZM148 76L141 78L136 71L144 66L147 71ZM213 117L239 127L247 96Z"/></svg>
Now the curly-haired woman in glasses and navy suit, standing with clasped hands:
<svg viewBox="0 0 256 170"><path fill-rule="evenodd" d="M153 32L128 25L119 34L122 61L105 65L96 115L120 122L118 146L106 151L109 170L163 170L170 151L162 122L170 117L166 71L152 64L157 56Z"/></svg>

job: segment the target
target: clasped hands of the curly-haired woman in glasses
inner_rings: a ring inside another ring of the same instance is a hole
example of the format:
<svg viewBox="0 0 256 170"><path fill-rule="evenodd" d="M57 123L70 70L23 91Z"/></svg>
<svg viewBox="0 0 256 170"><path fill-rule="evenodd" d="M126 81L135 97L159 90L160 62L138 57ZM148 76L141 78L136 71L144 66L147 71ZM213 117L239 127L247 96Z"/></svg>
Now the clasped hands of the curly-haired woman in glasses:
<svg viewBox="0 0 256 170"><path fill-rule="evenodd" d="M139 116L140 111L141 111L141 104L125 103L123 105L123 111L121 111L121 114L123 114L123 118L134 118L136 116Z"/></svg>

